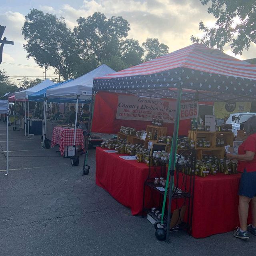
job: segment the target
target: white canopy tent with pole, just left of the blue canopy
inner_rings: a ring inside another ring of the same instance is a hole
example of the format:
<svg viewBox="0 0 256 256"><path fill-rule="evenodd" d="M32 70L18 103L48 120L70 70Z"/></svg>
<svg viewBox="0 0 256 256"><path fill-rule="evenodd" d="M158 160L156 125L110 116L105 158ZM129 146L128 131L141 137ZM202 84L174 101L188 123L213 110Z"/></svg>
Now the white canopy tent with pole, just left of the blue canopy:
<svg viewBox="0 0 256 256"><path fill-rule="evenodd" d="M35 92L38 92L48 86L53 85L54 82L52 82L50 79L46 79L40 84L37 84L31 88L28 88L26 90L20 91L20 92L15 92L15 105L16 105L16 100L25 100L25 136L26 136L26 124L27 124L27 118L26 118L26 110L27 110L27 99L28 95L33 94ZM28 104L28 112L29 112L29 104ZM14 113L14 120L15 120L15 113ZM28 126L29 127L29 126Z"/></svg>

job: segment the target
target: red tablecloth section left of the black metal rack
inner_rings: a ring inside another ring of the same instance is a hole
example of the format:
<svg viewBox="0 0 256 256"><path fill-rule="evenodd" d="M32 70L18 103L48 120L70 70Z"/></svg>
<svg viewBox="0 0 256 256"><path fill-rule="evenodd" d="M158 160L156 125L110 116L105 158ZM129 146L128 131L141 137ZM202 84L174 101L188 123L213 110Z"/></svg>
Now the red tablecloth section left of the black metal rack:
<svg viewBox="0 0 256 256"><path fill-rule="evenodd" d="M136 160L124 160L114 153L96 148L96 184L118 202L131 208L132 214L142 213L144 182L148 166ZM149 190L147 194L149 195ZM150 196L147 196L150 201Z"/></svg>

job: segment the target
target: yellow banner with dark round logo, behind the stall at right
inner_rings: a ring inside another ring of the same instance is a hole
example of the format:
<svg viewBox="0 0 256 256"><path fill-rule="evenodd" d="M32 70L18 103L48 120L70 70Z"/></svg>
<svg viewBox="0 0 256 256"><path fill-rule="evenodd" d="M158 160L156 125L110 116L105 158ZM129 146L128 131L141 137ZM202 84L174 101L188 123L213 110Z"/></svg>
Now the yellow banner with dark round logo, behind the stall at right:
<svg viewBox="0 0 256 256"><path fill-rule="evenodd" d="M252 102L215 102L214 113L216 118L228 118L230 114L250 112Z"/></svg>

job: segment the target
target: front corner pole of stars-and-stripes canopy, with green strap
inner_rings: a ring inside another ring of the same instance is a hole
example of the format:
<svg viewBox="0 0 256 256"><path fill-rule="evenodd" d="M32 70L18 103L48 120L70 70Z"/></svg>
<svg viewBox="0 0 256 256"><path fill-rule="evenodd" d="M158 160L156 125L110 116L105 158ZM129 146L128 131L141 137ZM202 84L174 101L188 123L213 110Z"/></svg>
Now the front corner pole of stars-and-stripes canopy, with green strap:
<svg viewBox="0 0 256 256"><path fill-rule="evenodd" d="M176 101L176 116L174 122L174 131L172 137L172 148L170 154L170 164L168 167L168 172L170 172L170 189L169 189L169 200L168 200L168 216L167 216L167 227L166 227L166 242L169 242L170 236L170 222L171 222L171 206L172 206L172 186L174 181L174 169L176 165L176 150L177 150L177 139L178 139L178 130L180 122L180 101L182 96L182 88L178 89L177 101ZM168 184L168 181L166 181Z"/></svg>

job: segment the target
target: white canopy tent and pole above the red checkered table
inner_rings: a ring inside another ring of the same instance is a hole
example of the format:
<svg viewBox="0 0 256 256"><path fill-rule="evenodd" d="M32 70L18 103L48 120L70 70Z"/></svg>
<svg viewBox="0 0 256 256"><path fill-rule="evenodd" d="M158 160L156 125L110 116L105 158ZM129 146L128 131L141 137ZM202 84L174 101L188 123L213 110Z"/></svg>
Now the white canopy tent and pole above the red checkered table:
<svg viewBox="0 0 256 256"><path fill-rule="evenodd" d="M105 76L115 71L103 64L98 68L90 71L83 76L80 76L70 82L67 82L61 87L52 88L46 91L47 98L56 98L59 100L74 100L76 99L76 121L75 121L75 131L74 131L74 144L76 143L76 124L77 124L77 111L78 111L78 101L86 102L90 101L92 97L92 84L93 79L99 76Z"/></svg>

